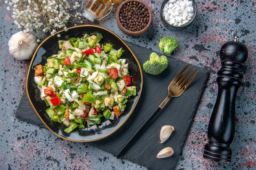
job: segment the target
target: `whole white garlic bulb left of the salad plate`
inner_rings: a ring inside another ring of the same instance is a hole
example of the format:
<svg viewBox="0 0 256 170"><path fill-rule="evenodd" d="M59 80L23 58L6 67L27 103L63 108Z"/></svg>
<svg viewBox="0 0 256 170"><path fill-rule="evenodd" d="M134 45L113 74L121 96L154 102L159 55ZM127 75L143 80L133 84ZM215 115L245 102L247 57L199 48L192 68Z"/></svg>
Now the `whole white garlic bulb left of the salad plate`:
<svg viewBox="0 0 256 170"><path fill-rule="evenodd" d="M13 57L18 60L27 60L32 57L38 43L34 34L19 31L11 36L8 45L9 52Z"/></svg>

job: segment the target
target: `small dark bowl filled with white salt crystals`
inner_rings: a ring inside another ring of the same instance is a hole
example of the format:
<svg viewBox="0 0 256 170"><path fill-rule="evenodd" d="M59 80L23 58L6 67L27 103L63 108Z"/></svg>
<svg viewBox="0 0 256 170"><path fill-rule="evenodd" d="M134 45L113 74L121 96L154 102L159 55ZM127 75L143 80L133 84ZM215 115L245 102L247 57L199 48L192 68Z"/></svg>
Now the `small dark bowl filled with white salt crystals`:
<svg viewBox="0 0 256 170"><path fill-rule="evenodd" d="M161 5L161 18L168 29L186 29L195 20L197 6L195 0L164 0Z"/></svg>

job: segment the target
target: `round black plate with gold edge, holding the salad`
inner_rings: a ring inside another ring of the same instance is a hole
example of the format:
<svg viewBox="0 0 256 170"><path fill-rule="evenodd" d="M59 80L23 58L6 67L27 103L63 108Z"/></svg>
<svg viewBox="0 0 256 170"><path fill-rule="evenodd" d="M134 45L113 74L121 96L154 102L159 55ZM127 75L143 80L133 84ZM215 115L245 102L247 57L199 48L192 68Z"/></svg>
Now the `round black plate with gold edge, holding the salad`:
<svg viewBox="0 0 256 170"><path fill-rule="evenodd" d="M92 35L97 32L103 35L101 43L111 42L114 45L115 49L124 49L125 52L122 58L125 58L126 62L129 63L128 70L130 72L130 75L132 75L131 86L137 87L137 96L131 97L128 100L126 104L126 110L124 111L123 115L116 117L115 120L108 120L103 122L103 124L100 126L93 125L90 128L85 128L83 130L74 130L70 134L67 134L66 132L64 132L63 124L52 124L51 121L49 121L49 117L45 112L45 109L48 107L46 106L45 102L40 99L40 91L34 83L34 66L36 64L45 65L47 58L53 54L56 54L57 51L59 51L58 40L68 40L68 38L71 37L82 37L85 33ZM57 34L61 35L61 37L57 37ZM55 135L70 141L90 142L108 137L116 130L118 130L127 121L139 100L142 91L142 84L143 75L139 61L130 49L130 47L118 35L100 26L79 25L70 27L68 31L62 30L57 32L54 36L51 35L47 37L38 46L29 65L29 70L27 73L26 92L29 102L40 120Z"/></svg>

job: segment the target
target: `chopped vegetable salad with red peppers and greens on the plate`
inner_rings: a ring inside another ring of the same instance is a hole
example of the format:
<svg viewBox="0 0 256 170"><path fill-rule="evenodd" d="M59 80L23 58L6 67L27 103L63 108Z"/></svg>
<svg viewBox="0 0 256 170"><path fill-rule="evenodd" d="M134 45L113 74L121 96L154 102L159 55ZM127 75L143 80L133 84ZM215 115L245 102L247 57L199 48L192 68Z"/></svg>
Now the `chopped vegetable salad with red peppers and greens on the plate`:
<svg viewBox="0 0 256 170"><path fill-rule="evenodd" d="M102 38L97 33L59 40L61 50L44 66L34 66L34 81L49 106L47 115L64 124L67 133L114 120L124 112L128 98L137 95L128 63L121 58L124 50L100 44Z"/></svg>

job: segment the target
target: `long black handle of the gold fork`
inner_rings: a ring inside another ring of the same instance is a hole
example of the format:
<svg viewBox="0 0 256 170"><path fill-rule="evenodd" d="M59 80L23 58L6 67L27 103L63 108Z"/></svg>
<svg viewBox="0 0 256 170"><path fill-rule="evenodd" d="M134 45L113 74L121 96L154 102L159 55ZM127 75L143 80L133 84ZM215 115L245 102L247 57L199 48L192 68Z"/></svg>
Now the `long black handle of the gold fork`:
<svg viewBox="0 0 256 170"><path fill-rule="evenodd" d="M139 128L139 130L133 135L133 137L128 141L128 143L124 146L124 148L117 155L117 159L121 158L122 155L130 148L130 146L138 139L139 135L142 134L143 130L148 126L150 121L157 115L157 113L161 110L160 107L155 110L155 112L148 118L148 120Z"/></svg>

